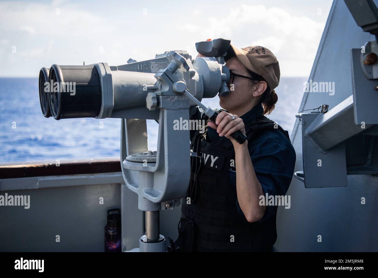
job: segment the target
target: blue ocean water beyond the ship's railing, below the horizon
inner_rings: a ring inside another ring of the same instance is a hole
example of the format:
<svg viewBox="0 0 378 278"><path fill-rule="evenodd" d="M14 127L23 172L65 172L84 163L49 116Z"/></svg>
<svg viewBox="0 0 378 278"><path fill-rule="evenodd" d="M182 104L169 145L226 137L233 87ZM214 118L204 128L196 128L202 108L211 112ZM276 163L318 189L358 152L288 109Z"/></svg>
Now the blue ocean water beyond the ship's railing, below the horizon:
<svg viewBox="0 0 378 278"><path fill-rule="evenodd" d="M307 78L284 78L268 116L291 133ZM203 104L219 108L218 97ZM102 128L101 128L102 127ZM120 119L62 119L42 115L37 78L0 78L0 163L119 156ZM147 121L149 149L156 150L158 124Z"/></svg>

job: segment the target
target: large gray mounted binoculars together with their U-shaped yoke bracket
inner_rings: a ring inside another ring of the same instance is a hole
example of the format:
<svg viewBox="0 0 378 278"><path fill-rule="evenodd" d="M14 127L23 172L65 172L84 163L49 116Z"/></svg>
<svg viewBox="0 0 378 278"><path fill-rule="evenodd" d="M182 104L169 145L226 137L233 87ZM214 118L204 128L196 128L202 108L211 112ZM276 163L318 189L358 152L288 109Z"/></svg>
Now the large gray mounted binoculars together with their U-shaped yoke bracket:
<svg viewBox="0 0 378 278"><path fill-rule="evenodd" d="M208 50L206 45L204 51ZM138 208L173 209L186 193L190 179L190 130L177 130L174 122L189 121L190 110L197 105L215 119L217 113L200 101L229 93L225 54L193 61L187 51L177 50L142 62L130 59L128 64L115 67L99 63L42 68L42 113L56 120L121 118L122 174L128 188L138 194ZM147 119L159 123L156 151L148 149Z"/></svg>

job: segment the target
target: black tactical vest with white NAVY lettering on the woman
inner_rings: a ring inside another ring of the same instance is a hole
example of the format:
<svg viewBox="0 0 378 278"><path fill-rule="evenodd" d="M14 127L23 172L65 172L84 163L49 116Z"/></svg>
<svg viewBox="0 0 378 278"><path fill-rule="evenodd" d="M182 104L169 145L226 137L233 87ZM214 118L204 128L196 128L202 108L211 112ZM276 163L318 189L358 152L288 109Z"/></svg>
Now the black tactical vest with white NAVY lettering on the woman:
<svg viewBox="0 0 378 278"><path fill-rule="evenodd" d="M247 140L263 129L274 127L290 140L286 130L263 115L246 127ZM191 180L195 186L189 186L182 199L179 239L175 242L180 250L270 251L277 238L276 213L264 222L250 223L238 212L236 188L228 177L231 160L235 158L231 140L222 137L209 143L201 140L197 131L191 143L191 158ZM199 160L199 171L193 171L193 163Z"/></svg>

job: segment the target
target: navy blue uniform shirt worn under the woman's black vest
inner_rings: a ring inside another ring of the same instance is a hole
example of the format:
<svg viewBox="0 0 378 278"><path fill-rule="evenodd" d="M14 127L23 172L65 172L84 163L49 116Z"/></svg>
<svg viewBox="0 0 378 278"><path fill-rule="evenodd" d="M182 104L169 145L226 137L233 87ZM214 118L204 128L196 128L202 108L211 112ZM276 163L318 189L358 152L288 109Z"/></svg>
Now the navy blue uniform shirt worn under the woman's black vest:
<svg viewBox="0 0 378 278"><path fill-rule="evenodd" d="M257 105L240 118L243 119L244 125L248 126L255 121L257 115L262 113L263 107ZM191 119L201 119L203 116L203 110L197 107ZM208 127L207 134L211 142L221 138L217 130L211 127ZM191 138L193 136L194 131L192 130ZM262 130L261 134L255 135L248 141L248 150L264 196L266 196L266 193L269 196L285 195L293 177L296 161L296 154L290 141L278 129L265 129ZM236 171L229 169L228 172L229 182L236 188ZM236 201L236 206L239 213L243 214L238 201ZM276 210L276 206L267 206L264 216L257 222L265 221L276 213Z"/></svg>

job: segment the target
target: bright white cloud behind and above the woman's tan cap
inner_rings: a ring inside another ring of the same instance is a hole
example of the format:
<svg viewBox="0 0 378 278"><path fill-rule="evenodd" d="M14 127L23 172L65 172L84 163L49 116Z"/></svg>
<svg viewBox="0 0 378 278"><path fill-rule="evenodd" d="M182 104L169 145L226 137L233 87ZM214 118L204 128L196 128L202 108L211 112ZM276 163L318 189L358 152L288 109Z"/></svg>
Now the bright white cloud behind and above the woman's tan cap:
<svg viewBox="0 0 378 278"><path fill-rule="evenodd" d="M197 24L178 25L178 29L208 37L231 39L238 47L263 45L280 62L283 76L309 75L325 22L292 16L282 8L240 5L226 16L209 17Z"/></svg>

